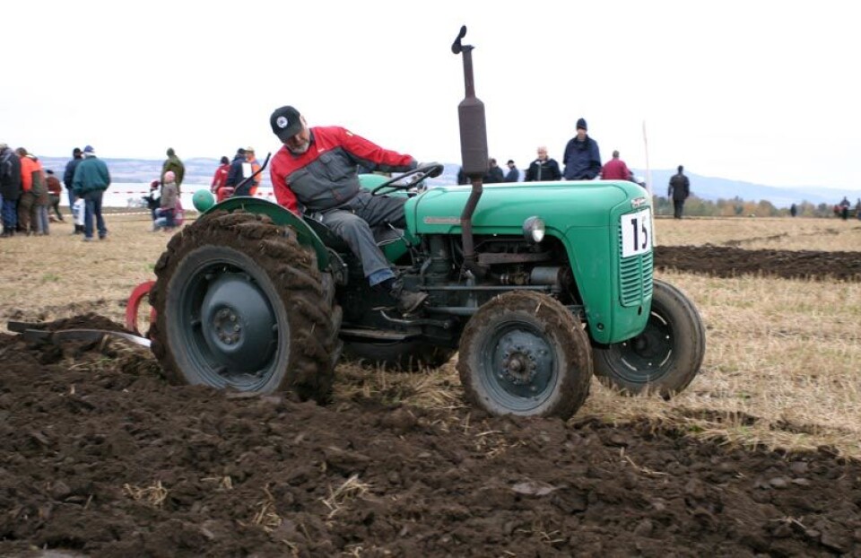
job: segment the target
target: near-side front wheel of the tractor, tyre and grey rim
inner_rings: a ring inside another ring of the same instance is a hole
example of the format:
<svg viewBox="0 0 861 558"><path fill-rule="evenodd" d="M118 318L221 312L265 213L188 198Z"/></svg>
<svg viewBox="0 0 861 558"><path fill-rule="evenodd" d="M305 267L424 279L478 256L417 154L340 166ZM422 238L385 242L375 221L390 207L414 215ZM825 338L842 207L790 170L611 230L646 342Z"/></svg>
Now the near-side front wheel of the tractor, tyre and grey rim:
<svg viewBox="0 0 861 558"><path fill-rule="evenodd" d="M575 414L592 379L592 351L578 318L536 292L507 292L466 324L457 371L465 397L489 414Z"/></svg>

